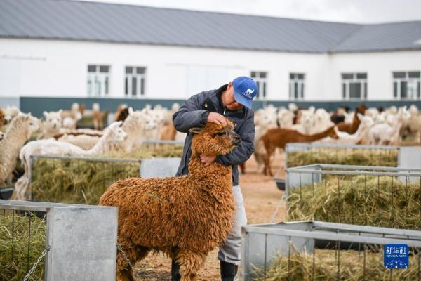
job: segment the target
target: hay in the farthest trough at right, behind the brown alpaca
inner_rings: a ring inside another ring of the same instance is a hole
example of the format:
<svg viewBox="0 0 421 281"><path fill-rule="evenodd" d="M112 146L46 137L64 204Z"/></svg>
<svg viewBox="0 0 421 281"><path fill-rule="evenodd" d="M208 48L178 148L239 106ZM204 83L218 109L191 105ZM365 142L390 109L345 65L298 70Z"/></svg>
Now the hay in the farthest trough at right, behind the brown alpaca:
<svg viewBox="0 0 421 281"><path fill-rule="evenodd" d="M314 148L309 151L288 152L288 167L319 163L396 167L398 150Z"/></svg>

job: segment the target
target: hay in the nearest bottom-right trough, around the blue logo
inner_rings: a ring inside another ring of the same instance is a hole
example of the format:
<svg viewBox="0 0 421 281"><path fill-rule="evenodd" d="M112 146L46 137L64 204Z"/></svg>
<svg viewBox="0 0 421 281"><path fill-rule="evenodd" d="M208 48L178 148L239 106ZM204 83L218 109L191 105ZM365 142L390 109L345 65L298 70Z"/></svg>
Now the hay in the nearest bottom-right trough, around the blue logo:
<svg viewBox="0 0 421 281"><path fill-rule="evenodd" d="M411 253L408 268L390 270L383 266L381 247L377 248L379 249L375 251L366 251L365 267L363 266L364 251L339 251L339 280L417 280L420 254ZM316 249L314 256L307 252L295 252L289 259L288 256L277 256L269 266L266 277L263 270L259 268L255 271L259 276L255 280L338 280L337 256L337 251L325 249Z"/></svg>

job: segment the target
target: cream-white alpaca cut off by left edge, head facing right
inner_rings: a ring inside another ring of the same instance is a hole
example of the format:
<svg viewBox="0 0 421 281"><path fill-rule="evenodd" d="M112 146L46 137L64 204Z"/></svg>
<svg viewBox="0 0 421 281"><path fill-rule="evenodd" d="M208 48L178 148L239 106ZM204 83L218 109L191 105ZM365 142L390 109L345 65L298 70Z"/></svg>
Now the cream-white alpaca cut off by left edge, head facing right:
<svg viewBox="0 0 421 281"><path fill-rule="evenodd" d="M38 124L31 115L19 114L8 126L4 138L0 141L0 185L7 180L11 183L11 174L15 169L20 148L39 130Z"/></svg>

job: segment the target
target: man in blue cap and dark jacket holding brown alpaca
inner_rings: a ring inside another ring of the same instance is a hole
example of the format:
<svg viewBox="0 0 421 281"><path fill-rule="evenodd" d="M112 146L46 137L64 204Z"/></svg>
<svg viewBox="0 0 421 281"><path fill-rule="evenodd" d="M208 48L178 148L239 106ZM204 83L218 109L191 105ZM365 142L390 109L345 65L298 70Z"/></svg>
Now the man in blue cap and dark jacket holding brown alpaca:
<svg viewBox="0 0 421 281"><path fill-rule="evenodd" d="M233 229L225 244L220 247L220 273L222 281L234 280L241 261L241 226L247 223L246 209L244 209L243 195L239 187L239 171L237 165L245 162L253 153L254 119L251 103L258 93L255 81L249 77L237 77L220 89L204 91L186 100L178 112L173 115L173 124L178 131L188 133L189 129L204 126L206 122L225 124L225 117L229 117L235 124L234 131L241 137L241 144L227 155L218 157L201 155L203 165L218 162L232 166L232 185L236 201L236 214ZM188 164L192 155L190 145L193 135L187 134L183 155L177 176L188 174ZM203 233L205 234L205 233ZM180 280L178 273L180 266L173 261L171 268L172 280Z"/></svg>

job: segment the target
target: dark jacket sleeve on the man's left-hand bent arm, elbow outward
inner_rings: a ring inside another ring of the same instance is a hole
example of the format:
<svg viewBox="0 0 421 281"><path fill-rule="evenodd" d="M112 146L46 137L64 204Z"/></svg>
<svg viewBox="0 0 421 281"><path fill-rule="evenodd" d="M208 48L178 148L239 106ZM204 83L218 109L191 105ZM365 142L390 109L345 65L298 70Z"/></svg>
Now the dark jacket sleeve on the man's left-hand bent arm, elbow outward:
<svg viewBox="0 0 421 281"><path fill-rule="evenodd" d="M201 110L198 95L191 96L173 115L173 124L177 131L188 133L189 129L202 127L208 121L209 112Z"/></svg>

